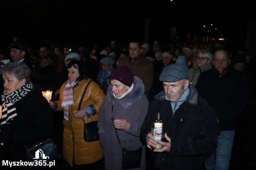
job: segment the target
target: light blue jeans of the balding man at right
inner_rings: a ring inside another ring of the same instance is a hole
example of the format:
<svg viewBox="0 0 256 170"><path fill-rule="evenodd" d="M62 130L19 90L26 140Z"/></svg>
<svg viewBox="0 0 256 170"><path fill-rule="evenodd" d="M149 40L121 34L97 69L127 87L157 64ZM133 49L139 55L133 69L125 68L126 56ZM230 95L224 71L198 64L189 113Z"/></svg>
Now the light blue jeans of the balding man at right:
<svg viewBox="0 0 256 170"><path fill-rule="evenodd" d="M234 136L234 130L220 131L216 150L205 157L207 170L228 170Z"/></svg>

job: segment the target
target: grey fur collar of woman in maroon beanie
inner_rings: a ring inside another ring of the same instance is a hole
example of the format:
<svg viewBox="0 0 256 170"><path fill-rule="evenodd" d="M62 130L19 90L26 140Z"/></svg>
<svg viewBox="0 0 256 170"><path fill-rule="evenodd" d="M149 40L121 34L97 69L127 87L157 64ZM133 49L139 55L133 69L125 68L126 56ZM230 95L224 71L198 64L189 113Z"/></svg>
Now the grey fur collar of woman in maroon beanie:
<svg viewBox="0 0 256 170"><path fill-rule="evenodd" d="M108 94L106 95L106 97L108 98L108 101L111 103L111 105L114 105L116 103L116 100L119 100L119 104L123 108L127 108L131 106L133 103L137 102L143 96L145 92L145 87L142 80L136 76L134 76L133 78L134 80L132 91L125 95L122 99L116 99L112 92L111 86L109 86Z"/></svg>

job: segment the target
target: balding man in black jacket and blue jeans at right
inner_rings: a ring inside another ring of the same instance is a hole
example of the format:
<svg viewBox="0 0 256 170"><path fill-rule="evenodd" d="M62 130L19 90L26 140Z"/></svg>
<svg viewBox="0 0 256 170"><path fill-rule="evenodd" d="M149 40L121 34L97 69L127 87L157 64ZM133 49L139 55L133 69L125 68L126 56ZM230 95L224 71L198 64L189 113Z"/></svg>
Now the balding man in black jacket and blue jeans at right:
<svg viewBox="0 0 256 170"><path fill-rule="evenodd" d="M207 170L228 170L237 117L247 102L247 83L241 72L229 67L226 50L217 50L211 61L214 68L202 72L196 84L199 94L215 108L220 132L217 148L206 156L205 166Z"/></svg>

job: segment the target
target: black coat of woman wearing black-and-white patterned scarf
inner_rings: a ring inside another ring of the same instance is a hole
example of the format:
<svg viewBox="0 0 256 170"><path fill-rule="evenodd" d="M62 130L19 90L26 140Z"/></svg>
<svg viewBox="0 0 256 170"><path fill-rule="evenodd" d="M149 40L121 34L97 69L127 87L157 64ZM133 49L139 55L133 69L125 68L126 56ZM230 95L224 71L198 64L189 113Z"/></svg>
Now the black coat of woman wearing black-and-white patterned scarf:
<svg viewBox="0 0 256 170"><path fill-rule="evenodd" d="M9 152L13 151L10 156L22 160L23 153L19 151L24 145L42 142L51 137L53 115L47 100L35 90L17 101L15 107L17 116L12 123L0 126L0 143L4 143L1 147Z"/></svg>

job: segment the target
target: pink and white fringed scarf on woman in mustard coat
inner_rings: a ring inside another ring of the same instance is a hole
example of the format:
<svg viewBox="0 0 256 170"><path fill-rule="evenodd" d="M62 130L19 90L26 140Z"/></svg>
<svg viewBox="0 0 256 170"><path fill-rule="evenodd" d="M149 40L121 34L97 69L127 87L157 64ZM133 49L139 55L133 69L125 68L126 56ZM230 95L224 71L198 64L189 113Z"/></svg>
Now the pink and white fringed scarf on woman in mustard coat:
<svg viewBox="0 0 256 170"><path fill-rule="evenodd" d="M64 110L64 119L68 121L68 111L69 111L69 105L74 104L74 95L73 95L73 87L76 85L76 81L69 81L65 86L65 89L63 91L63 99L61 106Z"/></svg>

